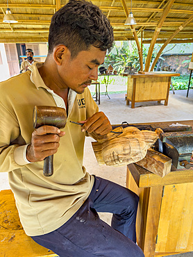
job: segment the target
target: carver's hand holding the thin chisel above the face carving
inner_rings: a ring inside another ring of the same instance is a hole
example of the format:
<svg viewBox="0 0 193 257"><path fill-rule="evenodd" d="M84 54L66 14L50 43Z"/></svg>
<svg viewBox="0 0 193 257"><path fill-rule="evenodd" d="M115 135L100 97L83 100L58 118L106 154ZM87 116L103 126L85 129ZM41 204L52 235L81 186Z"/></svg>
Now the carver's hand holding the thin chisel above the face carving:
<svg viewBox="0 0 193 257"><path fill-rule="evenodd" d="M88 133L95 132L98 135L106 135L112 131L112 126L108 117L103 112L94 113L92 117L88 118L83 124L82 131Z"/></svg>

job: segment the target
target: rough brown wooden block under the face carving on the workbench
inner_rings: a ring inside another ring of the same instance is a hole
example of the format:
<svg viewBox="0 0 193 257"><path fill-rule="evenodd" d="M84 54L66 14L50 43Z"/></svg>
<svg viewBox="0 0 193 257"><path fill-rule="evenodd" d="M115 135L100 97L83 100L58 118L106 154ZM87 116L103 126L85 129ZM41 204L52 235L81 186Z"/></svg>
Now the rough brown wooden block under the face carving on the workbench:
<svg viewBox="0 0 193 257"><path fill-rule="evenodd" d="M162 178L171 172L171 158L151 148L147 150L146 156L136 164Z"/></svg>

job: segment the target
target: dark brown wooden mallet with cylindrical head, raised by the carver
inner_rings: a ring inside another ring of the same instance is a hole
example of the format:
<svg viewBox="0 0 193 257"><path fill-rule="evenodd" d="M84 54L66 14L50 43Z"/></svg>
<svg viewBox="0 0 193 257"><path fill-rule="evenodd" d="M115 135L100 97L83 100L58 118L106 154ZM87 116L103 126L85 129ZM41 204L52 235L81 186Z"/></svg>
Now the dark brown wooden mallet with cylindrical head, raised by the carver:
<svg viewBox="0 0 193 257"><path fill-rule="evenodd" d="M33 110L33 127L49 125L64 128L67 123L67 113L64 108L56 106L35 106ZM53 174L53 155L44 158L44 176Z"/></svg>

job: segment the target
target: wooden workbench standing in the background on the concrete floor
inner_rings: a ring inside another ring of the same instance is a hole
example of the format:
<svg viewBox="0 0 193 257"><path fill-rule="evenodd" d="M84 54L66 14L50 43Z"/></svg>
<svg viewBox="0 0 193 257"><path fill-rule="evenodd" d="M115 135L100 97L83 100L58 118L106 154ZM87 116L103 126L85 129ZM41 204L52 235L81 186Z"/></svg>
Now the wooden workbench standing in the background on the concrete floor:
<svg viewBox="0 0 193 257"><path fill-rule="evenodd" d="M174 72L146 72L128 75L126 105L131 101L131 108L136 102L165 101L168 103L171 76L180 76Z"/></svg>

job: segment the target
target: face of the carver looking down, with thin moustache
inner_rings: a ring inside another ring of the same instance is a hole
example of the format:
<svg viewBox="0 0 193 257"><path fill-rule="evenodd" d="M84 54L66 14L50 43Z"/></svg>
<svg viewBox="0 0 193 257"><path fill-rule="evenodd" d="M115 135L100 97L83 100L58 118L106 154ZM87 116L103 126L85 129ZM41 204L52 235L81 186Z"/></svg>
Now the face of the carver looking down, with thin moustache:
<svg viewBox="0 0 193 257"><path fill-rule="evenodd" d="M80 51L71 59L64 58L58 66L58 73L62 79L62 88L71 88L78 94L84 92L92 80L97 81L98 67L104 62L106 51L91 46L88 51Z"/></svg>

